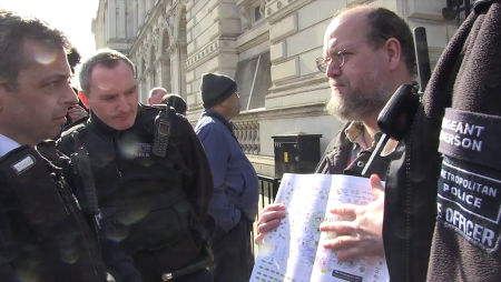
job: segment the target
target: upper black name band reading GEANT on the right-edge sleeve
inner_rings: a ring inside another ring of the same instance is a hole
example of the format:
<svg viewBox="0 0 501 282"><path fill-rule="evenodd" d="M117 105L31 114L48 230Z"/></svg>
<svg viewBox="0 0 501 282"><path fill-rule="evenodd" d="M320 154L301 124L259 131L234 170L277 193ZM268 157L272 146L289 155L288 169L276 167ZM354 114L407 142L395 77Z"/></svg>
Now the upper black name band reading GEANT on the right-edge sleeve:
<svg viewBox="0 0 501 282"><path fill-rule="evenodd" d="M445 109L439 152L501 170L501 117Z"/></svg>

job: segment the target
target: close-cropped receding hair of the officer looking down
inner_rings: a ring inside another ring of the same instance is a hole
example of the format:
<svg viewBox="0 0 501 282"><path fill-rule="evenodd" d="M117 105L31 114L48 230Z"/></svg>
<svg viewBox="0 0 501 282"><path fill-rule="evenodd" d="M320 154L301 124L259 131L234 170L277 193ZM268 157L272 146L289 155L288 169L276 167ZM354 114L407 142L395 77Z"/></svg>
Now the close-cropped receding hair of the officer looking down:
<svg viewBox="0 0 501 282"><path fill-rule="evenodd" d="M136 77L136 67L134 62L130 61L127 56L111 49L100 49L97 50L96 53L90 56L87 60L85 60L80 66L79 80L80 88L86 97L89 95L90 91L90 74L92 72L94 67L97 64L102 64L106 68L112 69L118 66L120 61L124 61L127 66L132 70L134 77Z"/></svg>

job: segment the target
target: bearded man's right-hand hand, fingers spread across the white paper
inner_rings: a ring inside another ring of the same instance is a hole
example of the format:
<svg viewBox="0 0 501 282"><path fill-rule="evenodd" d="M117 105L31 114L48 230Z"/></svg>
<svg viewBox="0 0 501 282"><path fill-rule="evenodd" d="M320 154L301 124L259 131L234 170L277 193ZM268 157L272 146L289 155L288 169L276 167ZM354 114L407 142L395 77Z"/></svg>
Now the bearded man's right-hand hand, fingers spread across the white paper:
<svg viewBox="0 0 501 282"><path fill-rule="evenodd" d="M362 207L340 205L331 210L340 220L321 224L321 231L336 233L336 238L326 241L324 248L335 251L340 261L384 255L382 236L384 190L376 174L371 175L371 187L375 197L373 202Z"/></svg>

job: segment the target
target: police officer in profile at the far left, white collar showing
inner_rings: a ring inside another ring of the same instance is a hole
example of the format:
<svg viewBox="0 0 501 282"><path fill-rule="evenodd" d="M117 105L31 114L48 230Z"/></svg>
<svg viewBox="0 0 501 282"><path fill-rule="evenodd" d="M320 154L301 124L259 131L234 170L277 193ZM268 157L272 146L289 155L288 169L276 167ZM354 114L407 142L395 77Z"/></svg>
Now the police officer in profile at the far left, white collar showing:
<svg viewBox="0 0 501 282"><path fill-rule="evenodd" d="M1 281L106 281L97 238L66 182L62 155L37 143L55 137L68 108L62 33L0 10Z"/></svg>

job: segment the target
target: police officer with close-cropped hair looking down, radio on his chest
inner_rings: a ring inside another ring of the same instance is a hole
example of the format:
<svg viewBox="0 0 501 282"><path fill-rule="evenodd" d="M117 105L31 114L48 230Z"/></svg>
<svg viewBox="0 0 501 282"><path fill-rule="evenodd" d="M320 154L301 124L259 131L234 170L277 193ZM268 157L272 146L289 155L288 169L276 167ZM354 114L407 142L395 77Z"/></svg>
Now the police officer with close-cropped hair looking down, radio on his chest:
<svg viewBox="0 0 501 282"><path fill-rule="evenodd" d="M213 181L191 125L171 108L139 104L135 67L117 51L88 58L79 78L90 118L63 132L59 148L89 151L109 238L134 258L144 281L212 281Z"/></svg>

